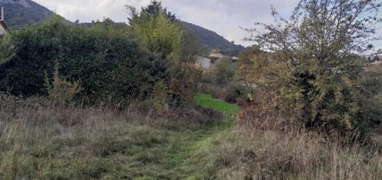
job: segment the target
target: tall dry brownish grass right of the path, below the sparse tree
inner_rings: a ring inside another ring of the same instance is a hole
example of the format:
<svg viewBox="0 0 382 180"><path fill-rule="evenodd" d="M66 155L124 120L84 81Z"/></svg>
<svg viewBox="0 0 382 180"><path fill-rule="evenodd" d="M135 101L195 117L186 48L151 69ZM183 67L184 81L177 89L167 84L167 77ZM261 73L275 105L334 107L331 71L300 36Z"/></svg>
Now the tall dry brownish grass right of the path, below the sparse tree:
<svg viewBox="0 0 382 180"><path fill-rule="evenodd" d="M222 179L382 179L378 143L306 131L279 115L260 117L241 113L234 140L222 140Z"/></svg>

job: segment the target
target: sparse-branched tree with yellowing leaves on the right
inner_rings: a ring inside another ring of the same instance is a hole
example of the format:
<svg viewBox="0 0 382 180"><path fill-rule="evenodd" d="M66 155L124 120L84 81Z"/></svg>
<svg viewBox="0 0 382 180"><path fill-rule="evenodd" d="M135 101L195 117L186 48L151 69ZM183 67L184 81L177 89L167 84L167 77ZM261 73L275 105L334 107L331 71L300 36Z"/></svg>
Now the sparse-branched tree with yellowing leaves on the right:
<svg viewBox="0 0 382 180"><path fill-rule="evenodd" d="M301 0L290 19L272 8L274 24L256 23L265 32L247 29L258 52L241 67L261 95L257 107L308 129L349 131L378 117L365 107L376 102L379 76L365 72L354 53L372 49L380 6Z"/></svg>

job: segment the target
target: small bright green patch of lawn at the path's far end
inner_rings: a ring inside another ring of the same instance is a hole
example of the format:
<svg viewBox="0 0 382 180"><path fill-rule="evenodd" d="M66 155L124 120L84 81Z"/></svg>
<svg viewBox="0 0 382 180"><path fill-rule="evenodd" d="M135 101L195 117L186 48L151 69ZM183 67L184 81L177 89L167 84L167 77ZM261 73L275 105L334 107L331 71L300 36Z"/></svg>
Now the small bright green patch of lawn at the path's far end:
<svg viewBox="0 0 382 180"><path fill-rule="evenodd" d="M212 108L216 111L225 113L226 115L236 115L240 111L240 106L237 104L229 104L220 99L214 99L210 95L199 94L194 98L195 104L204 108Z"/></svg>

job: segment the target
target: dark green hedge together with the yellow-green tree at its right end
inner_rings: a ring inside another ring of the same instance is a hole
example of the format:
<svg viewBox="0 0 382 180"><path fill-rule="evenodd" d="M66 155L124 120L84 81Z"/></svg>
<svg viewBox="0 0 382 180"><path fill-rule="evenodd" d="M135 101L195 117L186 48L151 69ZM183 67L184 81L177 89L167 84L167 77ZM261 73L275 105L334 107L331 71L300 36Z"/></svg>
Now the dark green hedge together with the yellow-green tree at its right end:
<svg viewBox="0 0 382 180"><path fill-rule="evenodd" d="M84 28L53 17L22 28L9 40L4 37L1 46L8 46L10 53L1 53L0 90L13 95L44 95L44 79L53 81L58 63L57 70L65 81L81 81L78 101L147 99L162 83L165 88L161 93L167 94L165 106L187 106L201 74L193 64L200 46L164 12L156 14L155 8L163 8L160 3L151 8L151 13L131 11L129 26L116 26L104 19Z"/></svg>

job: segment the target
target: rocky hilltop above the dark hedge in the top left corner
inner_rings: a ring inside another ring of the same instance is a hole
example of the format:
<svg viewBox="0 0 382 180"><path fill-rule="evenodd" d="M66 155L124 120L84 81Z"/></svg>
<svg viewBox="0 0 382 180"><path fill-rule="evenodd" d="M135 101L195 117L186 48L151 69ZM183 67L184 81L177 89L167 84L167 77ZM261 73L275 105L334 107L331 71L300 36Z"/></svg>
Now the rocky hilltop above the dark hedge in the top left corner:
<svg viewBox="0 0 382 180"><path fill-rule="evenodd" d="M5 21L11 28L42 22L54 13L31 0L0 0Z"/></svg>

